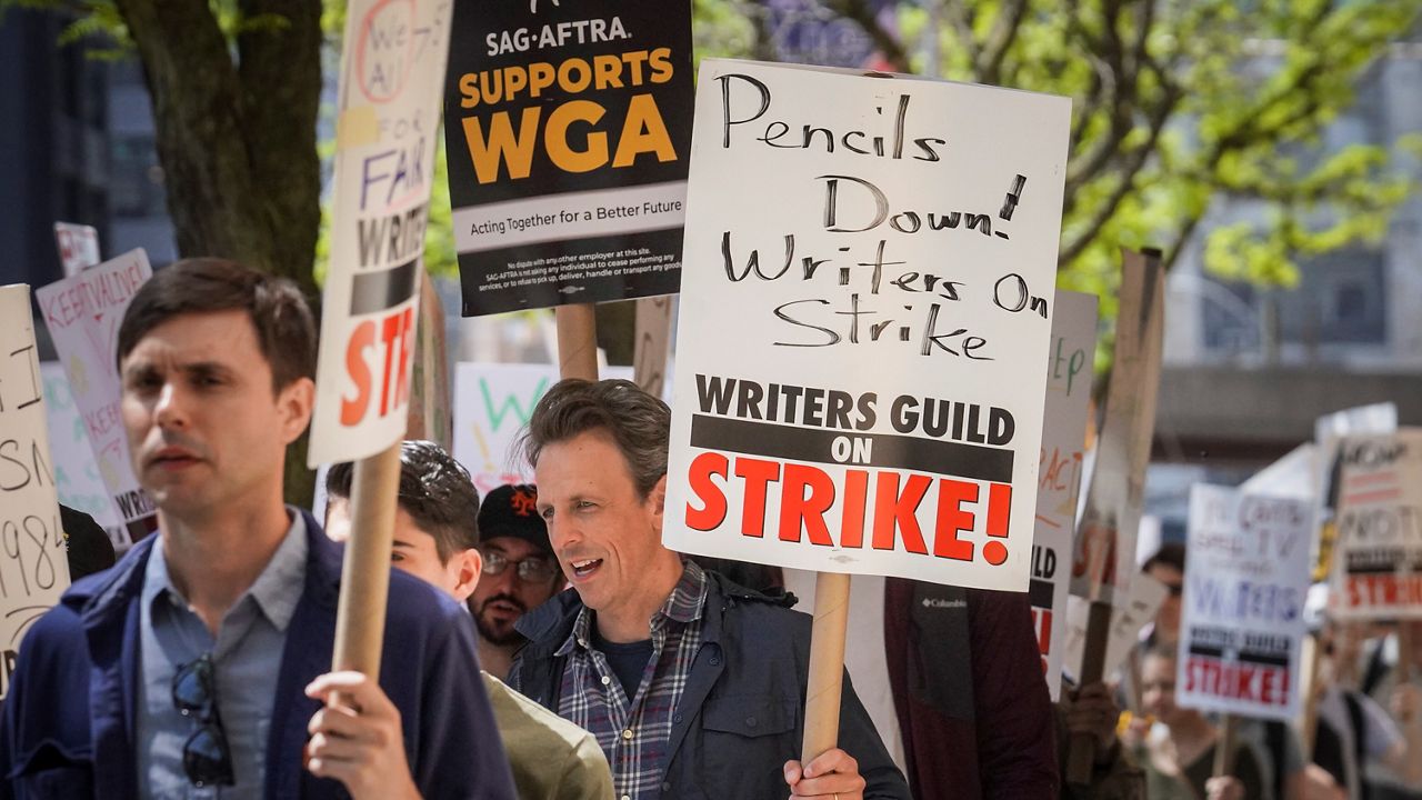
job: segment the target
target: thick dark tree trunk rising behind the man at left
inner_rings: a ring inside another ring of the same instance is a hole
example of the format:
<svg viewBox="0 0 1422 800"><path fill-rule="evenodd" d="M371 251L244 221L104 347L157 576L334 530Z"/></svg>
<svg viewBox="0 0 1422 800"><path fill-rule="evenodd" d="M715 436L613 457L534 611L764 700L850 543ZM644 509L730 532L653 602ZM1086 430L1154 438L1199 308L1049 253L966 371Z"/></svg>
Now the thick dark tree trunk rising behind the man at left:
<svg viewBox="0 0 1422 800"><path fill-rule="evenodd" d="M260 20L235 40L208 0L117 4L154 102L178 252L290 278L319 309L320 0L242 0ZM310 505L313 485L303 437L287 453L287 501Z"/></svg>

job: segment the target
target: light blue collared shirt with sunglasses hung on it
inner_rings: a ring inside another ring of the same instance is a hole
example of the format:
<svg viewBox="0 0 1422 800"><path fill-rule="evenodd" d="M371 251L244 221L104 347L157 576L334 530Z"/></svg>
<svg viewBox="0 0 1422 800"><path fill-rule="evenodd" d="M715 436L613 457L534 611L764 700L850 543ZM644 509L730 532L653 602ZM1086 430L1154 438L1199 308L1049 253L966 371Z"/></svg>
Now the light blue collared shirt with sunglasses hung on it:
<svg viewBox="0 0 1422 800"><path fill-rule="evenodd" d="M142 797L243 800L263 796L272 690L286 629L306 581L306 524L289 508L292 527L250 588L228 609L213 639L173 586L162 541L144 575L138 696L138 791ZM212 653L218 713L232 750L236 786L196 787L182 767L183 743L199 723L172 700L173 675Z"/></svg>

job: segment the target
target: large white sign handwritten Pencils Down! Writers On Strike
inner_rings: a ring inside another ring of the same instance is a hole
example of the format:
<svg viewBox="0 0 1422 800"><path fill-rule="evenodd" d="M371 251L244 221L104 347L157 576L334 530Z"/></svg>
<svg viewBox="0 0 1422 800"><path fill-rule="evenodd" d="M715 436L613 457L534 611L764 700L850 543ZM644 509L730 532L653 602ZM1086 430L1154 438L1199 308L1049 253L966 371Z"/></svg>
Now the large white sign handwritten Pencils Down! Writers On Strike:
<svg viewBox="0 0 1422 800"><path fill-rule="evenodd" d="M1025 589L1069 102L724 60L698 87L667 547Z"/></svg>

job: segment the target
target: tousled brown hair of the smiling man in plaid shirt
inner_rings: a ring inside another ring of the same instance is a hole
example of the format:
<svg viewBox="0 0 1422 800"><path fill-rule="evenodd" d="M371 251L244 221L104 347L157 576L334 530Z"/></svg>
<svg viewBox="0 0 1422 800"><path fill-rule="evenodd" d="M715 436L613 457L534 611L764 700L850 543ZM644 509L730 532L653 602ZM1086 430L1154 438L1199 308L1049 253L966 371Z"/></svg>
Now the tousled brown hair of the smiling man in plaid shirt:
<svg viewBox="0 0 1422 800"><path fill-rule="evenodd" d="M533 407L519 448L536 467L545 447L587 431L611 437L644 500L667 474L671 409L630 380L557 381Z"/></svg>

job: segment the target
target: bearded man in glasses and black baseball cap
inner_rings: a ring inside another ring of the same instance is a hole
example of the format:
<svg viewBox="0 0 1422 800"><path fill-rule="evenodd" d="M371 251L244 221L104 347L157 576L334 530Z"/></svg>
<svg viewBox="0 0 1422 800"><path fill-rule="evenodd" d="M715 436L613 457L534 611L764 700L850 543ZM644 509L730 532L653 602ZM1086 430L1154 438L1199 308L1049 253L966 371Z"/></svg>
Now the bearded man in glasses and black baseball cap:
<svg viewBox="0 0 1422 800"><path fill-rule="evenodd" d="M538 514L538 490L529 484L491 490L479 507L483 578L469 598L479 626L479 663L508 678L523 635L513 625L563 588L563 572Z"/></svg>

